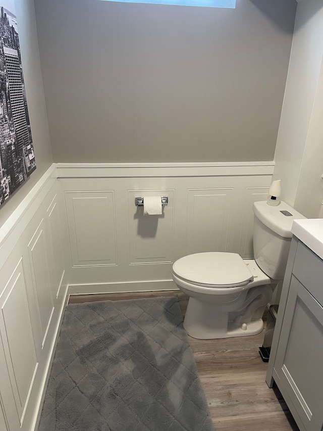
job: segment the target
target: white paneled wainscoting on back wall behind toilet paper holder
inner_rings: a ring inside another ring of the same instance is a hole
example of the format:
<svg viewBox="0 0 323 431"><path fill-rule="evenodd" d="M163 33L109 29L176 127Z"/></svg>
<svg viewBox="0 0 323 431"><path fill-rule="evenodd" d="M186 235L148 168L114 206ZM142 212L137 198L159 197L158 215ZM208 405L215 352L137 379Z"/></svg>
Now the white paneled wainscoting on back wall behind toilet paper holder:
<svg viewBox="0 0 323 431"><path fill-rule="evenodd" d="M186 254L250 257L252 199L266 199L273 167L272 162L60 164L69 292L174 289L173 262ZM143 216L135 198L158 195L169 197L163 214Z"/></svg>

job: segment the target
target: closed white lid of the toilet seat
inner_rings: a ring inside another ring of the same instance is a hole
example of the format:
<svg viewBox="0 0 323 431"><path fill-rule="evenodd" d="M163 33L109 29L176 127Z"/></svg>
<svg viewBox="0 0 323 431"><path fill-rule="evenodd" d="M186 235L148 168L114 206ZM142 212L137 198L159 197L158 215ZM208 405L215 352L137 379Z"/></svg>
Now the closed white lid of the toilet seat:
<svg viewBox="0 0 323 431"><path fill-rule="evenodd" d="M237 253L197 253L178 259L174 274L188 282L206 286L238 286L253 280L253 275Z"/></svg>

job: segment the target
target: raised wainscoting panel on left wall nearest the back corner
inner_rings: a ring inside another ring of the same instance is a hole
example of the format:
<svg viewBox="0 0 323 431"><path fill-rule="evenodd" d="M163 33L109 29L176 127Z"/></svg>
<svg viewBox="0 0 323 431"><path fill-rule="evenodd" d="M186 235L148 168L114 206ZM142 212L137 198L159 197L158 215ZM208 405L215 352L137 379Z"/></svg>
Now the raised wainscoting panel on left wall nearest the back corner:
<svg viewBox="0 0 323 431"><path fill-rule="evenodd" d="M47 209L50 230L50 246L52 252L52 261L48 262L51 272L51 289L52 297L58 298L61 288L62 275L64 272L62 239L60 228L60 214L57 202L57 195L50 203Z"/></svg>

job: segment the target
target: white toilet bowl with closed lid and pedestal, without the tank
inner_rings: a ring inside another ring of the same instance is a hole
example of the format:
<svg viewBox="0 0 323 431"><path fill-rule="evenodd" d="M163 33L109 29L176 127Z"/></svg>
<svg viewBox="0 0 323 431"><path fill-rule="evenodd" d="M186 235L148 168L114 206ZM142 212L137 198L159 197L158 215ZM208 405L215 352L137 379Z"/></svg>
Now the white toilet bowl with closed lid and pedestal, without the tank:
<svg viewBox="0 0 323 431"><path fill-rule="evenodd" d="M185 256L175 262L173 279L190 297L184 328L198 339L259 333L276 285L255 260L243 260L235 253Z"/></svg>

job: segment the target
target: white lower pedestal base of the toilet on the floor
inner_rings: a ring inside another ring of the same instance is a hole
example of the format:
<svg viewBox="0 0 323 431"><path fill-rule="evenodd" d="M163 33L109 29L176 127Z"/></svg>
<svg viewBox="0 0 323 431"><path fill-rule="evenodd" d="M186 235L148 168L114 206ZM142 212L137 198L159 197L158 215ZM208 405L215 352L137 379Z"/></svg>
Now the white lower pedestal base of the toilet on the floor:
<svg viewBox="0 0 323 431"><path fill-rule="evenodd" d="M190 298L184 329L190 337L200 340L245 337L261 332L263 321L258 318L242 324L228 322L228 312L221 310L221 307Z"/></svg>

